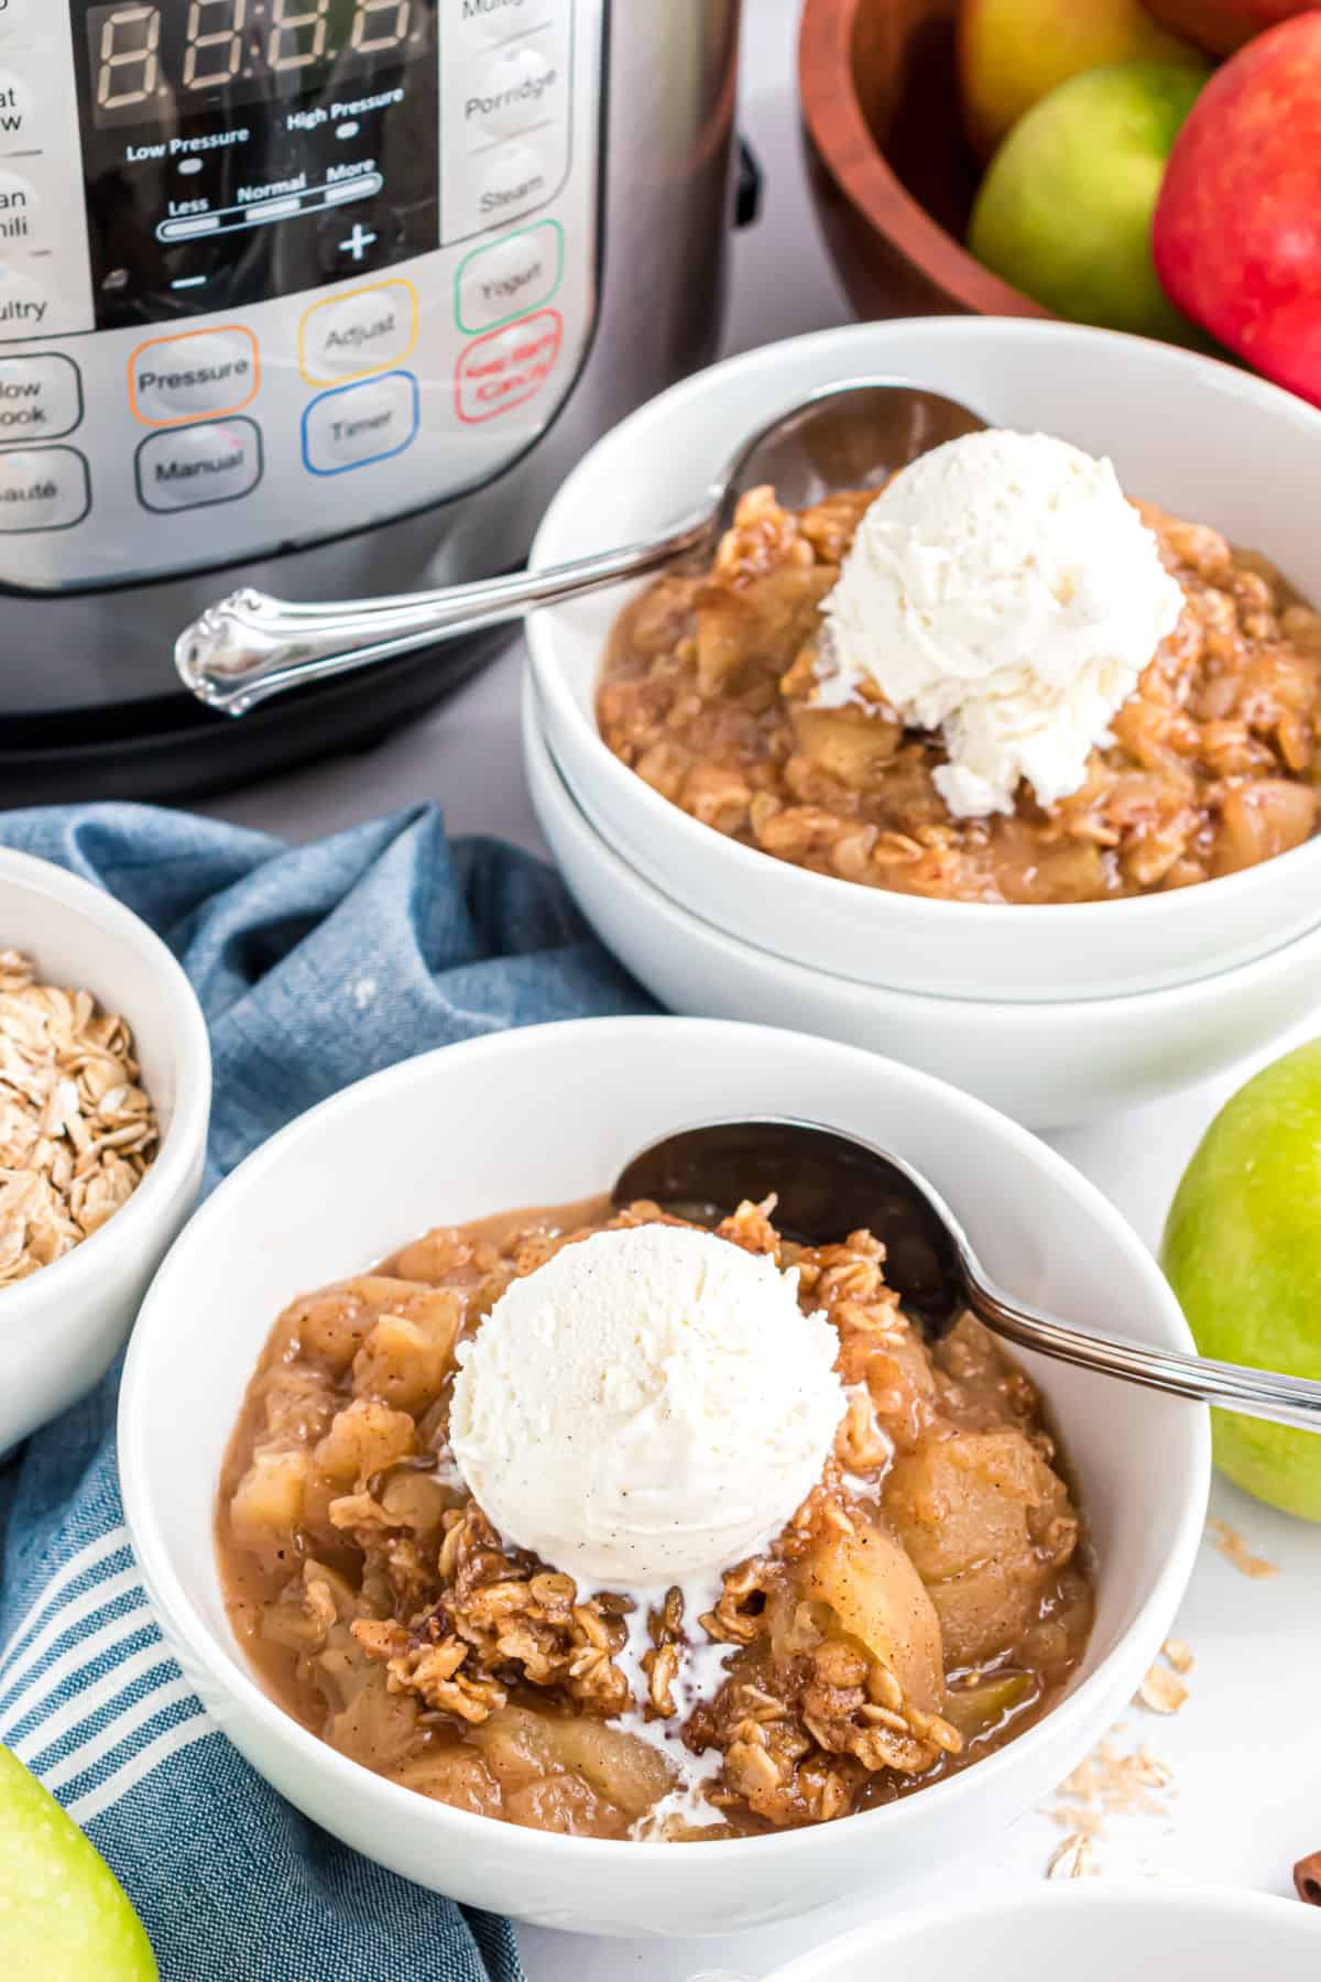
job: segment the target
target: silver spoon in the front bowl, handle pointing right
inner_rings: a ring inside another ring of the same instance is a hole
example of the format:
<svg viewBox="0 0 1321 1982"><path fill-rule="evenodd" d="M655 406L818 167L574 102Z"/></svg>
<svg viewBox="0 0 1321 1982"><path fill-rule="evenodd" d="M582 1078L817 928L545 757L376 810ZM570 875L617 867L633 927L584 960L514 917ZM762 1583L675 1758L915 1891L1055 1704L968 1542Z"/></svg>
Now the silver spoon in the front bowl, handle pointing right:
<svg viewBox="0 0 1321 1982"><path fill-rule="evenodd" d="M911 1163L818 1122L766 1118L679 1130L636 1156L610 1197L616 1205L650 1197L705 1221L772 1191L776 1225L804 1245L830 1245L862 1227L875 1233L885 1245L885 1278L927 1342L939 1342L970 1310L992 1334L1056 1362L1271 1425L1321 1431L1321 1383L1093 1336L1014 1300Z"/></svg>

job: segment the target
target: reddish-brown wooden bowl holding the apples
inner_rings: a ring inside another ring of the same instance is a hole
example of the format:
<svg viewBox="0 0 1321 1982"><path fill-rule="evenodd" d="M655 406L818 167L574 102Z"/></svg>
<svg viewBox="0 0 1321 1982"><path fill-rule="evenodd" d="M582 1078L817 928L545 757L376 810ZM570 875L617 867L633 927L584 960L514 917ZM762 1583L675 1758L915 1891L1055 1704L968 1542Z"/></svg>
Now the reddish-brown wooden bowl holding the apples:
<svg viewBox="0 0 1321 1982"><path fill-rule="evenodd" d="M860 317L1050 317L974 262L978 165L955 69L959 0L806 0L798 85L826 242Z"/></svg>

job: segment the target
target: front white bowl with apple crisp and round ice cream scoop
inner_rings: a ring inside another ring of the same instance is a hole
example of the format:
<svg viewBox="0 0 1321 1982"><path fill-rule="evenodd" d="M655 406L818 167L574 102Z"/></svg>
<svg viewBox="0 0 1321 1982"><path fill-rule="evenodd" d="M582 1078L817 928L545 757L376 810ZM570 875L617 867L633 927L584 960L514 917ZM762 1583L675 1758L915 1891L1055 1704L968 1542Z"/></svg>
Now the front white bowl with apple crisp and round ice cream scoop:
<svg viewBox="0 0 1321 1982"><path fill-rule="evenodd" d="M372 1076L143 1308L121 1483L184 1671L295 1806L461 1901L695 1934L899 1889L1062 1780L1169 1629L1200 1413L970 1320L929 1346L875 1233L808 1247L772 1195L610 1203L658 1134L768 1106L911 1157L1034 1300L1186 1344L1014 1124L679 1019Z"/></svg>

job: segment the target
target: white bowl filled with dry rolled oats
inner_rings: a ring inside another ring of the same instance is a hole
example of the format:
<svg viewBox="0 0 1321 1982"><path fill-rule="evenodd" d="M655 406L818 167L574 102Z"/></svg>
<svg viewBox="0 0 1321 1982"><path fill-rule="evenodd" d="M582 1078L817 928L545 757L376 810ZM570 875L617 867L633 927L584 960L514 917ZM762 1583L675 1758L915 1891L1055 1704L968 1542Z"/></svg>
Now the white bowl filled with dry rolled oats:
<svg viewBox="0 0 1321 1982"><path fill-rule="evenodd" d="M212 1068L147 924L0 848L0 1455L107 1372L202 1181Z"/></svg>

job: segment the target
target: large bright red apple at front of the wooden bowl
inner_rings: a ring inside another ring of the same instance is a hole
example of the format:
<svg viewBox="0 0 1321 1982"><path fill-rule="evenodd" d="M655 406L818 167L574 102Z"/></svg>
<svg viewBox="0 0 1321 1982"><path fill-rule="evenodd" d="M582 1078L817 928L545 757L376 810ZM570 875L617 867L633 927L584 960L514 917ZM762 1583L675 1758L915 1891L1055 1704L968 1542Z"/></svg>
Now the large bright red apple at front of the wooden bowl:
<svg viewBox="0 0 1321 1982"><path fill-rule="evenodd" d="M1174 139L1151 246L1184 315L1321 406L1321 8L1212 75Z"/></svg>

